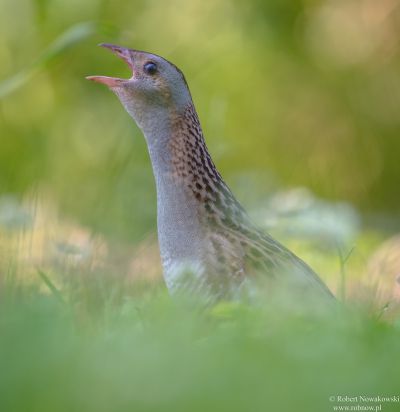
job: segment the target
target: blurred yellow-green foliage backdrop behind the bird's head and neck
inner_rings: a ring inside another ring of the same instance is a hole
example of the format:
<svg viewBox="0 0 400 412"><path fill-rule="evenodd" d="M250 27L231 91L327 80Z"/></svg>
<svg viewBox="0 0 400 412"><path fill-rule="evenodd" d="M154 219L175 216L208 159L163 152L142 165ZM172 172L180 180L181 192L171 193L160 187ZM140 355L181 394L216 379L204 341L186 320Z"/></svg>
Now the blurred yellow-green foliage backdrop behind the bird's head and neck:
<svg viewBox="0 0 400 412"><path fill-rule="evenodd" d="M236 176L256 176L258 199L301 185L398 215L399 22L397 0L1 0L0 193L44 187L67 215L133 241L154 227L143 138L84 80L128 75L95 47L107 41L182 68L239 193Z"/></svg>

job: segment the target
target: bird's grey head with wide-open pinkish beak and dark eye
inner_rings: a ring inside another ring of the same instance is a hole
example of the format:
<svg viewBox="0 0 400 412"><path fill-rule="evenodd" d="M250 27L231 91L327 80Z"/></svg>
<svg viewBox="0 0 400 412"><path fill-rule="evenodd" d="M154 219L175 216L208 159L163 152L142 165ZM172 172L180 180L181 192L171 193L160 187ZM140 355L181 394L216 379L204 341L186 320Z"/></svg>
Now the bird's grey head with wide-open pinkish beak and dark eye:
<svg viewBox="0 0 400 412"><path fill-rule="evenodd" d="M129 79L88 76L88 80L108 86L121 100L139 127L146 128L155 116L179 113L191 96L183 73L166 59L152 53L112 44L100 46L122 58L132 70Z"/></svg>

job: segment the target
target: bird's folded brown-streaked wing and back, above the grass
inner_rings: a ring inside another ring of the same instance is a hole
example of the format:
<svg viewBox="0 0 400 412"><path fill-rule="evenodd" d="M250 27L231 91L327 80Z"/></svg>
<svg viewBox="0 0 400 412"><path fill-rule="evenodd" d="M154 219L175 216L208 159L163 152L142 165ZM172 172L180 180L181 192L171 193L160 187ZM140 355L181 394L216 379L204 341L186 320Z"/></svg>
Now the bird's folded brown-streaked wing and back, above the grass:
<svg viewBox="0 0 400 412"><path fill-rule="evenodd" d="M223 193L223 201L207 221L211 245L209 259L214 259L211 264L214 274L225 278L228 271L236 284L256 275L285 277L291 284L302 284L304 289L333 296L305 262L251 222L222 181L219 190Z"/></svg>

